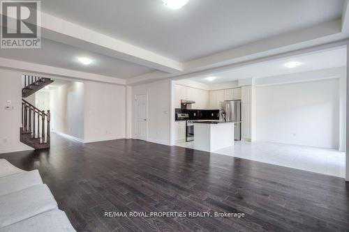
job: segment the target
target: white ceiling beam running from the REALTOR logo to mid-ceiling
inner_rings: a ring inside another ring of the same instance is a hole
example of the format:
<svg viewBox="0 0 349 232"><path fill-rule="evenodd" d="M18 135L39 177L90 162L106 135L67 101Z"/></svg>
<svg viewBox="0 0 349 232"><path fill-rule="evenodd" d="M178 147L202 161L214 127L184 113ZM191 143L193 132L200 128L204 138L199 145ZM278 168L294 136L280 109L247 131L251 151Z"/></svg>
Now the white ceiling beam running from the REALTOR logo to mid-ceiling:
<svg viewBox="0 0 349 232"><path fill-rule="evenodd" d="M41 30L44 38L91 52L164 72L182 70L182 64L177 61L43 12L41 12Z"/></svg>

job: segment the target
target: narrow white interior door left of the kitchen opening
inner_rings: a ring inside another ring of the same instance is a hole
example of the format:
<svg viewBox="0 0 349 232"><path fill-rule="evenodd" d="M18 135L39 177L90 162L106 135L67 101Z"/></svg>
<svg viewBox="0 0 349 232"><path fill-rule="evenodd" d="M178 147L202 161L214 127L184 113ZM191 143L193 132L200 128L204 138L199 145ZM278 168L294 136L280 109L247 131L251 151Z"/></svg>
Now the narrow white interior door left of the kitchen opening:
<svg viewBox="0 0 349 232"><path fill-rule="evenodd" d="M146 94L135 95L135 138L147 141L148 101Z"/></svg>

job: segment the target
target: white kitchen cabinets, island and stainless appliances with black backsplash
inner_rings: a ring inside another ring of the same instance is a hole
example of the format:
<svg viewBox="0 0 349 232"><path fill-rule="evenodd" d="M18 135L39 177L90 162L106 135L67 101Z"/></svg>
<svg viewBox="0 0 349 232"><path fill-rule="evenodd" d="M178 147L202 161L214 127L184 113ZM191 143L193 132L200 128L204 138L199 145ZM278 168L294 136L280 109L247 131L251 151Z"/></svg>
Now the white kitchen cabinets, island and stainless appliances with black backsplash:
<svg viewBox="0 0 349 232"><path fill-rule="evenodd" d="M191 84L174 86L177 146L211 152L241 140L242 88L232 84L234 88L205 90Z"/></svg>

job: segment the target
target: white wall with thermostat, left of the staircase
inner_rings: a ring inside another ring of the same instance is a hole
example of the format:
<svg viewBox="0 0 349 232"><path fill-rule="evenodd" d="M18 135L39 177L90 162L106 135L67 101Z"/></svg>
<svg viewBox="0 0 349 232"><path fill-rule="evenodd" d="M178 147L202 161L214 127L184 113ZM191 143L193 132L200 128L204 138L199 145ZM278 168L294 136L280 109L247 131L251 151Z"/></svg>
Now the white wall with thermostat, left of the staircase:
<svg viewBox="0 0 349 232"><path fill-rule="evenodd" d="M33 150L20 142L22 73L0 69L0 79L0 153ZM8 100L13 110L5 110Z"/></svg>

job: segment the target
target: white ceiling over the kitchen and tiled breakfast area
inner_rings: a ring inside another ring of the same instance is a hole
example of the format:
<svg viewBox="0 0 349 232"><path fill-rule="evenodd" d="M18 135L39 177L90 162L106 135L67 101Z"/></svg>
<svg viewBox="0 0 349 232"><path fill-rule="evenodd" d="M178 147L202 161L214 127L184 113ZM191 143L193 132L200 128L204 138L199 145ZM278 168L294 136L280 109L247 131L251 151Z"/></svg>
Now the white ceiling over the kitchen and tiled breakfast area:
<svg viewBox="0 0 349 232"><path fill-rule="evenodd" d="M298 61L302 64L296 68L285 67L285 63L290 61ZM332 49L326 52L303 54L302 56L294 56L288 59L279 59L253 65L246 65L244 67L234 68L225 72L210 73L190 79L203 84L220 84L224 82L232 82L237 79L274 77L297 72L307 72L343 66L346 66L346 48ZM209 82L207 79L205 79L206 77L216 77L216 79Z"/></svg>

